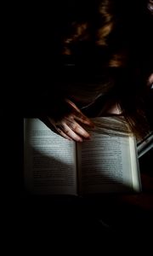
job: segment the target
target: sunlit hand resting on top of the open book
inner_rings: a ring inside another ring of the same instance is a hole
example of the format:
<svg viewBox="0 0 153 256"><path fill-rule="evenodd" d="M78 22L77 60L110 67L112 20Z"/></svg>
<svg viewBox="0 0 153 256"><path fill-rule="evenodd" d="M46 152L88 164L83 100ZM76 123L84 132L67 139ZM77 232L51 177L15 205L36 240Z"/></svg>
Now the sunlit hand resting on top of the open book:
<svg viewBox="0 0 153 256"><path fill-rule="evenodd" d="M68 99L65 99L65 106L60 106L60 108L62 109L56 117L55 114L54 118L48 117L48 127L68 140L82 142L83 139L89 139L90 135L82 128L82 125L94 128L94 123Z"/></svg>

